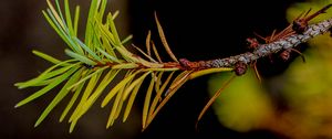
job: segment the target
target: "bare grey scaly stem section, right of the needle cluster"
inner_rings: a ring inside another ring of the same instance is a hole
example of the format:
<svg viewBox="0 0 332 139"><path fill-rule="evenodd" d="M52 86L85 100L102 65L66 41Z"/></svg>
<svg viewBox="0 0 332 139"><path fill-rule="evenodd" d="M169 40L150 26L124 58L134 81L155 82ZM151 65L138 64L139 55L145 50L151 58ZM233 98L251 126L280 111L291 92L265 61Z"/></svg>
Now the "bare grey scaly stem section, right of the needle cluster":
<svg viewBox="0 0 332 139"><path fill-rule="evenodd" d="M189 65L189 67L191 68L235 67L238 63L249 64L261 57L278 53L282 50L295 47L299 44L304 43L319 34L323 34L330 31L331 26L332 18L315 24L308 25L307 30L303 33L294 33L293 35L277 40L268 44L258 44L258 46L252 52L205 62L189 62L186 58L181 58L180 62L184 63L184 65Z"/></svg>

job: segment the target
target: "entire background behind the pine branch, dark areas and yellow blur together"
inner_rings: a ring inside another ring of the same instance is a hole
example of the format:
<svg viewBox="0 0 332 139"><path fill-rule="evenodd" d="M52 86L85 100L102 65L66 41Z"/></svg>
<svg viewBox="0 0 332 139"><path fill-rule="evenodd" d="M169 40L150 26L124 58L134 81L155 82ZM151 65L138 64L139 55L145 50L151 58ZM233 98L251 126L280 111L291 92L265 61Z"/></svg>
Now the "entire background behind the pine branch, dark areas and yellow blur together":
<svg viewBox="0 0 332 139"><path fill-rule="evenodd" d="M90 1L70 2L82 8L82 34ZM227 0L221 3L215 0L110 0L107 10L120 10L116 23L121 35L132 33L137 46L144 46L148 29L155 30L153 12L157 11L174 53L198 61L243 53L248 51L246 38L253 36L253 32L270 35L274 29L286 28L302 11L309 8L315 11L332 1L298 2L300 0ZM42 17L45 8L45 0L0 1L0 138L332 138L332 50L328 35L300 45L305 63L295 53L288 62L278 57L273 63L269 58L259 61L262 84L252 71L237 77L221 93L214 108L208 109L198 129L195 124L199 111L229 75L212 74L185 84L144 132L141 132L144 94L138 96L141 100L129 119L125 124L118 121L108 130L105 129L107 110L97 105L71 135L68 124L58 122L62 107L33 128L56 90L14 109L19 100L37 89L19 90L13 84L34 77L49 66L34 56L32 50L66 58L65 44ZM318 20L331 13L332 10L328 10Z"/></svg>

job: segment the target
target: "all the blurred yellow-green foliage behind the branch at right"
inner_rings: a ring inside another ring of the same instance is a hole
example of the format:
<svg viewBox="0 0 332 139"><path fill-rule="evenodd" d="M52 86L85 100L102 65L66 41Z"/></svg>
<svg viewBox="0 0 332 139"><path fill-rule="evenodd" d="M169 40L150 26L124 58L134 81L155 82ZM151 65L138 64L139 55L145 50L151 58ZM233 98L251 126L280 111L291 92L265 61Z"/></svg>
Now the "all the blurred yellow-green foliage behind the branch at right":
<svg viewBox="0 0 332 139"><path fill-rule="evenodd" d="M329 3L332 0L294 3L287 19L292 22L301 12L311 8L312 14ZM332 9L326 12L310 23L331 18ZM252 71L237 77L212 106L220 122L238 131L268 129L291 139L332 138L332 38L326 33L308 44L303 52L305 63L298 57L283 74L264 81L274 87L262 88ZM210 78L210 95L228 76ZM276 108L273 95L268 95L274 88L287 108Z"/></svg>

